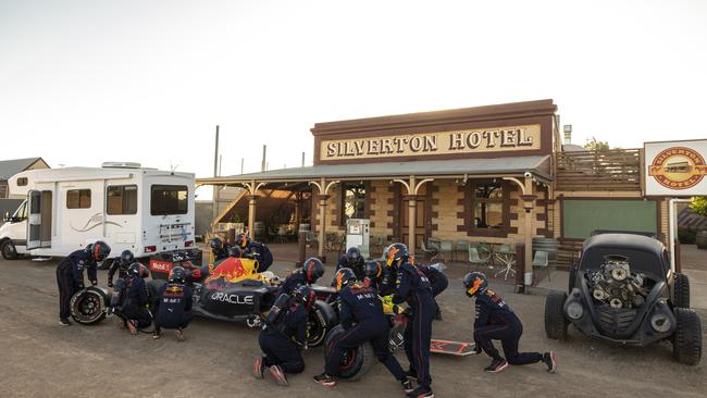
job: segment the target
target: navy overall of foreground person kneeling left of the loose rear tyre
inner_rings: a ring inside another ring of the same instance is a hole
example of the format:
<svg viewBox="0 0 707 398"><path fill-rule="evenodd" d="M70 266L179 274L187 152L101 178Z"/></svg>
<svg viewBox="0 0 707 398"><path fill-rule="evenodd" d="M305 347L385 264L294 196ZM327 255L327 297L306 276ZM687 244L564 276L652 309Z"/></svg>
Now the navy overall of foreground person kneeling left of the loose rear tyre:
<svg viewBox="0 0 707 398"><path fill-rule="evenodd" d="M300 304L294 304L278 318L275 325L263 326L258 341L265 355L265 366L280 365L285 373L300 373L305 370L301 347L307 340L308 320L307 310Z"/></svg>

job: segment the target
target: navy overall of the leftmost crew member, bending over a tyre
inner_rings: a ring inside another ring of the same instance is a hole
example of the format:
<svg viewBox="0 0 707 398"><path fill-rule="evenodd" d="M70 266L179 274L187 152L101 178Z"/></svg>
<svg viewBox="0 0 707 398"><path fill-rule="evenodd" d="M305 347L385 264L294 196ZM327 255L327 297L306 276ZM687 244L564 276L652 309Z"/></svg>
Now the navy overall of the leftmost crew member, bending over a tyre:
<svg viewBox="0 0 707 398"><path fill-rule="evenodd" d="M84 288L84 269L91 285L98 284L96 260L90 250L76 250L57 265L57 285L59 286L59 318L71 315L71 297Z"/></svg>

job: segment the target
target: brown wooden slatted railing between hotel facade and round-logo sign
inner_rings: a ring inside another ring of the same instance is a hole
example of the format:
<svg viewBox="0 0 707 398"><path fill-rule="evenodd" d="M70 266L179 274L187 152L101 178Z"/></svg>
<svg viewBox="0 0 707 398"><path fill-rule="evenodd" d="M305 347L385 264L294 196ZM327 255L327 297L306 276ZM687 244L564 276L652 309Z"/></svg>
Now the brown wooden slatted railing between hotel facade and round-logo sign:
<svg viewBox="0 0 707 398"><path fill-rule="evenodd" d="M641 190L641 149L555 153L556 190Z"/></svg>

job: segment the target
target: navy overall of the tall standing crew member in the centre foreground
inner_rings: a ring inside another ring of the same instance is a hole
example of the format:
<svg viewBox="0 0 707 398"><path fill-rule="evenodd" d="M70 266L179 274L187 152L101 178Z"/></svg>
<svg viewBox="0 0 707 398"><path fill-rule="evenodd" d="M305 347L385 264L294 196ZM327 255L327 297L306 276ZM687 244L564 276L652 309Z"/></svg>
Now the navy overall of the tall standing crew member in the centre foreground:
<svg viewBox="0 0 707 398"><path fill-rule="evenodd" d="M432 286L420 269L407 262L399 266L397 285L393 302L399 304L406 301L412 309L412 316L408 320L404 334L410 371L418 375L418 385L430 387L432 320L437 310Z"/></svg>

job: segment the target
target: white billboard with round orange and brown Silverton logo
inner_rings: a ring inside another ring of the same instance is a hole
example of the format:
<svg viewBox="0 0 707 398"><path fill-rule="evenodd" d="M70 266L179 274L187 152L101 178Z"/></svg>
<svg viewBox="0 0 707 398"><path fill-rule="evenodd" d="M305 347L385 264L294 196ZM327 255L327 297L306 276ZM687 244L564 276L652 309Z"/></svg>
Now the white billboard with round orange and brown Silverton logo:
<svg viewBox="0 0 707 398"><path fill-rule="evenodd" d="M644 144L648 196L707 195L707 139Z"/></svg>

